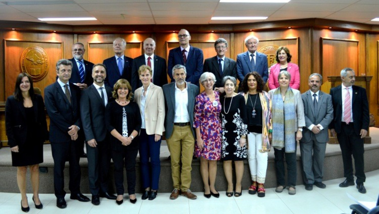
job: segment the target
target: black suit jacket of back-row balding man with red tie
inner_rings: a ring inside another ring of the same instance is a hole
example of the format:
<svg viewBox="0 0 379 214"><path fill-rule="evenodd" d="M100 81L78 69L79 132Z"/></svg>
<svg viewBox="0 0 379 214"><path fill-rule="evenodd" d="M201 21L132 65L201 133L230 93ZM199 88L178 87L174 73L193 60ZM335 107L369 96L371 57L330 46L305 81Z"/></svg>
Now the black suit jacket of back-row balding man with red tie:
<svg viewBox="0 0 379 214"><path fill-rule="evenodd" d="M167 84L167 65L166 60L154 54L154 71L153 71L153 83L156 86L162 87ZM132 91L142 86L141 80L139 80L138 69L140 66L146 65L145 55L137 56L133 59L132 66Z"/></svg>

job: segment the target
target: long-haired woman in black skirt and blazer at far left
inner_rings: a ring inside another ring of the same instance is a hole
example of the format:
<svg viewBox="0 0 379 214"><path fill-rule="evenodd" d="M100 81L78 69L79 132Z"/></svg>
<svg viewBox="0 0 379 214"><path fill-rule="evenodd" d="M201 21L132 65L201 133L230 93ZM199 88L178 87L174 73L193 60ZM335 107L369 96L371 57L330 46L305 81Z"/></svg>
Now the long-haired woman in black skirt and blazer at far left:
<svg viewBox="0 0 379 214"><path fill-rule="evenodd" d="M12 166L17 167L17 184L21 193L21 209L29 211L26 195L28 167L33 187L33 202L42 209L39 200L39 165L44 161L42 145L48 139L45 105L41 95L34 94L33 81L27 73L16 79L14 94L5 104L5 127L8 145L12 152Z"/></svg>

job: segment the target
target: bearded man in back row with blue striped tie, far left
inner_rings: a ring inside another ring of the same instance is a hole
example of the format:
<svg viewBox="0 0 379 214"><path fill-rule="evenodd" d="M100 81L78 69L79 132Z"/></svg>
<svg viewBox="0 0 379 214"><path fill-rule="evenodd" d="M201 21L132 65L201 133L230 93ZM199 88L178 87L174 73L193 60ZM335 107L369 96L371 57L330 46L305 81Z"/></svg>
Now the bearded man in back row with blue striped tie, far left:
<svg viewBox="0 0 379 214"><path fill-rule="evenodd" d="M93 83L92 79L92 62L83 59L83 55L86 52L83 43L77 42L72 45L72 73L69 80L70 83L74 83L79 86L80 89L86 89Z"/></svg>

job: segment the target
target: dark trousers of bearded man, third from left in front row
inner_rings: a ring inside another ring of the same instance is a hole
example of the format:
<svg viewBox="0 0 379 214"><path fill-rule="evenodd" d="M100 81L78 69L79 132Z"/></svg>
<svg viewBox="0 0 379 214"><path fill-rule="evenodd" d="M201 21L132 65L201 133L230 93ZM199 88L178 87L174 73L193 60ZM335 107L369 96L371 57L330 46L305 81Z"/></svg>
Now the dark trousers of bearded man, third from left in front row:
<svg viewBox="0 0 379 214"><path fill-rule="evenodd" d="M86 144L89 190L92 195L108 192L108 170L111 154L108 141L97 142L96 147Z"/></svg>

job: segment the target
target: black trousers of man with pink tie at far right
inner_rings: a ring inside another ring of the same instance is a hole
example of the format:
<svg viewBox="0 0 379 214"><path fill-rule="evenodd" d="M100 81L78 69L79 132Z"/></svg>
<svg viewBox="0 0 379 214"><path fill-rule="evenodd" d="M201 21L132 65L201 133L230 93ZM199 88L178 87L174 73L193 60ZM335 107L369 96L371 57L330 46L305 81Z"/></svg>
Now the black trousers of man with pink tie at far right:
<svg viewBox="0 0 379 214"><path fill-rule="evenodd" d="M337 139L340 143L342 160L343 160L343 174L348 181L354 181L353 177L353 164L351 155L354 157L354 165L356 170L357 184L366 181L365 175L365 162L363 160L363 138L354 132L353 123L341 123L341 133L337 133Z"/></svg>

